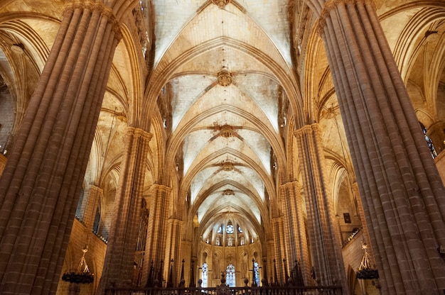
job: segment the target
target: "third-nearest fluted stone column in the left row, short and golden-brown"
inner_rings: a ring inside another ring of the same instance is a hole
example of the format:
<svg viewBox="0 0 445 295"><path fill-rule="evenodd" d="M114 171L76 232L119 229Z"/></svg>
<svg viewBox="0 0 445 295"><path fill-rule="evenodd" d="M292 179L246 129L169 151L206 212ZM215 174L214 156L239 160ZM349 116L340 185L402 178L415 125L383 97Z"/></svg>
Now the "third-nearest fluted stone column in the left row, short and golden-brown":
<svg viewBox="0 0 445 295"><path fill-rule="evenodd" d="M163 273L163 279L166 279L166 273L161 267L169 267L169 262L164 261L166 257L167 241L167 220L168 208L171 198L171 188L162 184L153 184L149 192L149 229L145 247L145 261L153 262L156 272ZM163 263L161 263L161 260ZM149 273L150 263L144 264L144 273ZM149 278L153 279L153 278ZM152 282L148 282L149 284ZM161 284L161 282L159 282Z"/></svg>

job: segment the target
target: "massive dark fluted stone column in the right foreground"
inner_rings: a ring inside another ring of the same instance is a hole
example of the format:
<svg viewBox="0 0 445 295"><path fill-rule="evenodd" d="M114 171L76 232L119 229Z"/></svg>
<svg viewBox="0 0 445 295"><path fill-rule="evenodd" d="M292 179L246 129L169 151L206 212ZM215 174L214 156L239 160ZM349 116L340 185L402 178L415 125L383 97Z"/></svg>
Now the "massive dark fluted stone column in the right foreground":
<svg viewBox="0 0 445 295"><path fill-rule="evenodd" d="M445 190L373 1L324 4L319 26L382 294L445 289Z"/></svg>

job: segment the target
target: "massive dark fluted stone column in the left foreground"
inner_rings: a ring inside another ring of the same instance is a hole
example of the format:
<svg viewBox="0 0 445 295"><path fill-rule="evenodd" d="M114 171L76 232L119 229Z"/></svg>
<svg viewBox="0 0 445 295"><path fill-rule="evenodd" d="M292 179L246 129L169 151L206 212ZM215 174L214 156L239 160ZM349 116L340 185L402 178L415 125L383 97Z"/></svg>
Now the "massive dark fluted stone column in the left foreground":
<svg viewBox="0 0 445 295"><path fill-rule="evenodd" d="M57 288L119 39L112 9L68 4L0 180L1 294Z"/></svg>

